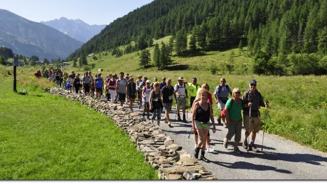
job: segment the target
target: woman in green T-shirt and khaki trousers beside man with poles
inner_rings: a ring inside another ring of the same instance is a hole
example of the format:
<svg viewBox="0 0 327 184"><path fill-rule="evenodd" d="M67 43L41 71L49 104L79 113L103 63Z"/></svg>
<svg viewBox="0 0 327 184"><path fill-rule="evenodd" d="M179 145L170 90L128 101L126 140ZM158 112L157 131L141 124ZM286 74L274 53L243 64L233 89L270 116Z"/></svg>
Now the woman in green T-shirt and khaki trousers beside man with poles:
<svg viewBox="0 0 327 184"><path fill-rule="evenodd" d="M241 132L242 132L242 99L240 98L241 91L239 88L234 88L232 90L232 97L228 99L225 105L225 109L222 112L222 116L225 116L226 123L228 127L228 133L224 138L223 146L227 149L228 141L231 140L231 137L235 135L235 145L234 151L236 153L242 153L239 149L239 142L241 141Z"/></svg>

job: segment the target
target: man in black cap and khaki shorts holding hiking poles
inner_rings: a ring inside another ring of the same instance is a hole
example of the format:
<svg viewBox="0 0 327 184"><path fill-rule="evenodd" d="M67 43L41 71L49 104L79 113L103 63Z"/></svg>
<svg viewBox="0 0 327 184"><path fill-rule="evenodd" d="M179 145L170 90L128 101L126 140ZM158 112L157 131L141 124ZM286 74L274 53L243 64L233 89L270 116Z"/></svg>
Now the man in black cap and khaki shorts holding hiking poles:
<svg viewBox="0 0 327 184"><path fill-rule="evenodd" d="M256 133L258 133L259 130L261 129L259 108L269 107L268 103L263 102L263 98L259 93L259 91L256 89L256 87L257 87L257 81L253 79L250 80L249 90L245 91L245 93L242 96L242 101L245 104L245 107L243 107L243 124L246 129L245 137L243 139L243 148L253 152L258 152L257 147L254 145L254 141L255 141ZM251 138L250 144L248 144L248 137Z"/></svg>

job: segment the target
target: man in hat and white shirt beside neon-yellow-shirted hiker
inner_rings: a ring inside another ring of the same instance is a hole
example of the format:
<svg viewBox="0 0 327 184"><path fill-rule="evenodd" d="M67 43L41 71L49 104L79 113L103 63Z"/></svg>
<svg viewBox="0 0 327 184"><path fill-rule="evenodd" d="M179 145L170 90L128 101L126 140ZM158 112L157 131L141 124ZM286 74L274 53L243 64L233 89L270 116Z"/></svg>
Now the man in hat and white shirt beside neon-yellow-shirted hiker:
<svg viewBox="0 0 327 184"><path fill-rule="evenodd" d="M177 116L178 121L181 121L180 115L179 115L179 109L182 109L183 112L183 121L186 123L186 117L185 117L185 109L186 109L186 99L188 98L188 90L186 89L186 85L184 83L184 78L179 77L178 83L174 87L175 89L175 95L176 95L176 107L177 107Z"/></svg>

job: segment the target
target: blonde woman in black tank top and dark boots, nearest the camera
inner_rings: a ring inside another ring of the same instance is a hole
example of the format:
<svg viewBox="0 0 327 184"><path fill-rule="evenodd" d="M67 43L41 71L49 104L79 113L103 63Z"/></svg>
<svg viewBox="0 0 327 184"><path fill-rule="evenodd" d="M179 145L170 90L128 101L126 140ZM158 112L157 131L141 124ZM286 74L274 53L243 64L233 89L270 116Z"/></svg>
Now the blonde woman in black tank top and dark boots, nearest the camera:
<svg viewBox="0 0 327 184"><path fill-rule="evenodd" d="M199 93L197 98L201 100L197 102L193 108L192 112L192 130L198 132L200 142L198 143L198 147L195 149L194 157L198 159L199 151L201 149L201 157L200 160L204 162L208 162L208 160L204 157L205 149L206 149L206 137L209 131L209 120L213 124L213 132L216 132L215 120L212 115L211 105L208 103L208 91L204 88L199 89Z"/></svg>

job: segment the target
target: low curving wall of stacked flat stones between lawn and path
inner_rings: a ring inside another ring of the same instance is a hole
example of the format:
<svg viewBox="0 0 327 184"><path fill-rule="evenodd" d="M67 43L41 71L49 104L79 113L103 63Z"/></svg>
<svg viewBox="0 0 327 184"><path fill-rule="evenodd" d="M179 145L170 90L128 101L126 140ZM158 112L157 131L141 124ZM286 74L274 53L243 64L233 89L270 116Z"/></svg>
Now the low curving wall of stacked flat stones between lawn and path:
<svg viewBox="0 0 327 184"><path fill-rule="evenodd" d="M133 113L129 108L121 107L119 104L99 102L89 96L70 93L63 88L43 90L52 95L81 102L112 119L118 127L128 133L130 141L135 143L136 149L143 153L145 161L157 170L160 179L217 179L186 150L174 144L174 140L163 130L137 113Z"/></svg>

